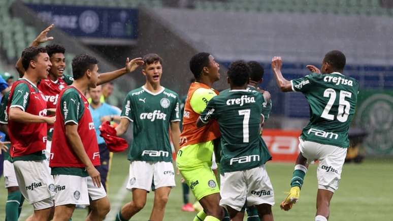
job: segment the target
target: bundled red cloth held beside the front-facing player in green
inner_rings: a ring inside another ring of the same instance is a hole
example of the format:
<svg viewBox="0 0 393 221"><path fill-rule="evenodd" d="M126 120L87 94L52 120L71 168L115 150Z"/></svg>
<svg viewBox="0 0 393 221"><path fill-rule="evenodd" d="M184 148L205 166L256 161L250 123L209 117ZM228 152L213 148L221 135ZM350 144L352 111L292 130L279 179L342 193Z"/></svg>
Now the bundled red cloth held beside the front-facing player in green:
<svg viewBox="0 0 393 221"><path fill-rule="evenodd" d="M105 121L100 126L100 136L104 138L109 151L122 152L128 148L125 139L116 136L116 130L111 126L109 121Z"/></svg>

